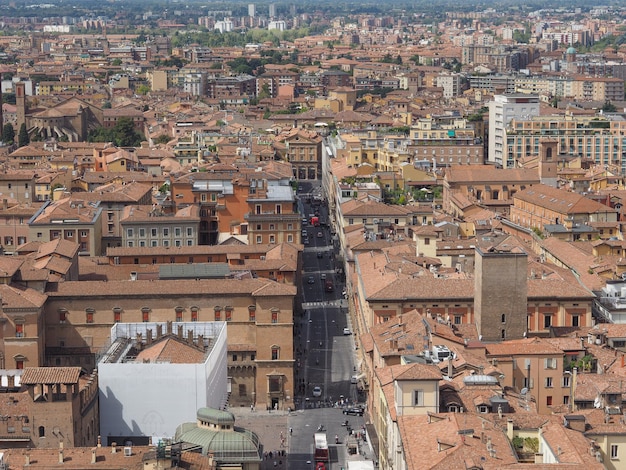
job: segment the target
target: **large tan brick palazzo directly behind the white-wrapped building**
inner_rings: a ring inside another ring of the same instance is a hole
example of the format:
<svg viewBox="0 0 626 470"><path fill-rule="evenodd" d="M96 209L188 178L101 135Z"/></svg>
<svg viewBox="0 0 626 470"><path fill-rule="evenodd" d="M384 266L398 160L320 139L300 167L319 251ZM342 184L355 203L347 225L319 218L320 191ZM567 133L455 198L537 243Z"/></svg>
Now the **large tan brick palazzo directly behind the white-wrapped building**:
<svg viewBox="0 0 626 470"><path fill-rule="evenodd" d="M61 361L95 367L116 323L169 321L178 331L183 322L226 322L229 404L293 409L296 291L267 279L66 281L48 293L46 347L65 351Z"/></svg>

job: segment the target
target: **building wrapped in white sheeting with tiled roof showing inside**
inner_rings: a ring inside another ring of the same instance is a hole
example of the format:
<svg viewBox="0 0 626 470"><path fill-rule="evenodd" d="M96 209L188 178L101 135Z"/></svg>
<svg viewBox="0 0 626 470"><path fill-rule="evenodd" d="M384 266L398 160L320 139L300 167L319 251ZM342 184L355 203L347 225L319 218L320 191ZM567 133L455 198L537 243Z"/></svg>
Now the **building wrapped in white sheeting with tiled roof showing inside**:
<svg viewBox="0 0 626 470"><path fill-rule="evenodd" d="M226 338L225 322L115 324L98 360L103 443L156 444L199 408L222 409Z"/></svg>

